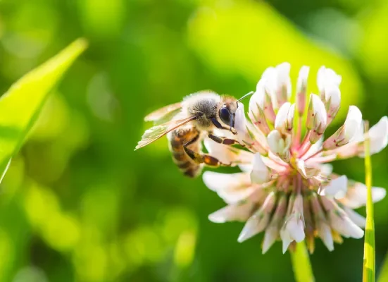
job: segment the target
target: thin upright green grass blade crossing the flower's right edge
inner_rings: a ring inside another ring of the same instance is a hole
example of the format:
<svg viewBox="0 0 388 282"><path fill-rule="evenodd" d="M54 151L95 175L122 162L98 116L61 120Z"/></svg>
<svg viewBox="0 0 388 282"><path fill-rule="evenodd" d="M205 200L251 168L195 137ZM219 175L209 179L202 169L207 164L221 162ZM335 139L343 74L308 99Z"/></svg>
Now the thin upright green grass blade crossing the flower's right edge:
<svg viewBox="0 0 388 282"><path fill-rule="evenodd" d="M365 126L368 132L368 125ZM365 137L365 185L367 188L366 226L364 243L363 282L375 281L375 222L373 221L372 162L370 161L369 137Z"/></svg>

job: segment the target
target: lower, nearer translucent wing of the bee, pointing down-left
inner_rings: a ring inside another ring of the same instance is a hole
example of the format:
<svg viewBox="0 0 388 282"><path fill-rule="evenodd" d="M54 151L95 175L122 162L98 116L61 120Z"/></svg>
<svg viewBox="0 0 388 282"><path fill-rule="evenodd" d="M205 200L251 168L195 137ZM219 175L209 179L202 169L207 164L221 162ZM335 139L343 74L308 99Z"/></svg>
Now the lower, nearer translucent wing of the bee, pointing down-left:
<svg viewBox="0 0 388 282"><path fill-rule="evenodd" d="M163 123L161 125L155 125L154 127L149 128L146 130L146 132L144 132L142 140L137 143L137 146L134 149L137 150L146 145L149 145L170 131L179 128L180 126L189 123L190 121L194 121L194 119L196 119L196 116L189 116L188 118L169 121L168 123Z"/></svg>

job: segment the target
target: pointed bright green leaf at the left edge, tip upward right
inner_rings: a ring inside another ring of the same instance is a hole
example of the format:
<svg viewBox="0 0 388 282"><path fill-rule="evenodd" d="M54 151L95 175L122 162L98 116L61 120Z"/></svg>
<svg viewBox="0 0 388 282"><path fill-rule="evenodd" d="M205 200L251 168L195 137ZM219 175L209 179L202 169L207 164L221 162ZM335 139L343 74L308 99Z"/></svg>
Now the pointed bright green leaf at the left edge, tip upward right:
<svg viewBox="0 0 388 282"><path fill-rule="evenodd" d="M59 54L24 75L0 98L0 174L23 145L50 90L82 51L85 39L77 39ZM1 176L1 178L2 178Z"/></svg>

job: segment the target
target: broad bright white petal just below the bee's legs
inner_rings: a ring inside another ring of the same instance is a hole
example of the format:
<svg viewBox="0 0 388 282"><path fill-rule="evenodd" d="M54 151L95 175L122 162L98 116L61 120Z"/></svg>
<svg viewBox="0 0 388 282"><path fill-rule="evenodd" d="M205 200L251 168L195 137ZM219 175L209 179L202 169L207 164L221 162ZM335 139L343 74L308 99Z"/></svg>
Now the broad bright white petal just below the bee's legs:
<svg viewBox="0 0 388 282"><path fill-rule="evenodd" d="M205 185L217 192L228 204L245 200L257 187L251 184L248 173L216 173L205 171L202 176Z"/></svg>

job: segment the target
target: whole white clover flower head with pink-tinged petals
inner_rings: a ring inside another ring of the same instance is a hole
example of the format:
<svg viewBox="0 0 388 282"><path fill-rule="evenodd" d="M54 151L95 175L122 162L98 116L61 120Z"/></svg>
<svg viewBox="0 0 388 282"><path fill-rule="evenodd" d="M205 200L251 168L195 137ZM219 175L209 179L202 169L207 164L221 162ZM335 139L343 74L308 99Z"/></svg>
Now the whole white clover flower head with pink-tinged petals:
<svg viewBox="0 0 388 282"><path fill-rule="evenodd" d="M289 102L289 63L263 73L249 102L250 121L239 104L237 140L248 150L211 140L205 143L210 154L242 169L233 174L204 173L206 185L227 203L209 219L218 223L246 221L239 242L264 232L263 253L279 239L283 252L302 240L313 252L315 237L332 251L334 243L342 243L342 237L361 238L364 234L365 218L353 209L365 205L365 185L332 173L327 164L334 159L363 157L361 111L350 106L344 125L324 140L323 133L339 110L342 78L330 68L320 68L319 94L310 95L306 111L308 72L307 66L299 72L296 104ZM306 133L301 136L305 112ZM388 143L387 116L368 134L372 154L384 149ZM383 188L373 188L374 202L384 196Z"/></svg>

